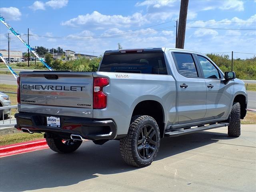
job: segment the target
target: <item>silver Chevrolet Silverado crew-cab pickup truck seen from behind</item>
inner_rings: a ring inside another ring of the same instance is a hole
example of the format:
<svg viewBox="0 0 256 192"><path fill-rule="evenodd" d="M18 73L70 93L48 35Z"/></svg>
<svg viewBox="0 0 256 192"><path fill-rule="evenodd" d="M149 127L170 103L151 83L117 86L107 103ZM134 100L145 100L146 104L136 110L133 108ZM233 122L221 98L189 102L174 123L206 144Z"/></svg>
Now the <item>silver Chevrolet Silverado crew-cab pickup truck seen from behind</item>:
<svg viewBox="0 0 256 192"><path fill-rule="evenodd" d="M120 140L124 161L151 164L160 138L228 126L240 136L244 82L198 52L171 48L106 51L97 72L20 72L16 128L42 133L55 152L83 140Z"/></svg>

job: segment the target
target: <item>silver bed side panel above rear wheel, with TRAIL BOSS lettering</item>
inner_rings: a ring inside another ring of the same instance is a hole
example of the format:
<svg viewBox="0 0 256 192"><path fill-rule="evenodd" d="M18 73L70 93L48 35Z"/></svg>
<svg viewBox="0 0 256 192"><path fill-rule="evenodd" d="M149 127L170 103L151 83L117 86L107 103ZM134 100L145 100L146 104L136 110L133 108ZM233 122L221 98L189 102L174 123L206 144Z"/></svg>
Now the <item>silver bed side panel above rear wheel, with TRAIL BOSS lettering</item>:
<svg viewBox="0 0 256 192"><path fill-rule="evenodd" d="M169 114L176 115L176 85L171 75L96 72L94 77L108 77L109 85L103 88L107 94L107 108L93 110L93 118L112 118L117 134L127 134L136 105L144 100L159 102L165 114L165 123L172 122Z"/></svg>

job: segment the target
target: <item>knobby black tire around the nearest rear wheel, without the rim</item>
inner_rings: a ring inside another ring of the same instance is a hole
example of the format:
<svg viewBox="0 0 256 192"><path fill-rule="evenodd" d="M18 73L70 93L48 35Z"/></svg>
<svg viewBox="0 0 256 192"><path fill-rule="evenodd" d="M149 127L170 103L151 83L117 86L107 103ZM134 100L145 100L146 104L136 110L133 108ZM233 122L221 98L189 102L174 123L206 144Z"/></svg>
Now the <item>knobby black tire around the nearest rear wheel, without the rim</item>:
<svg viewBox="0 0 256 192"><path fill-rule="evenodd" d="M155 145L154 145L155 150L151 152L152 154L147 159L143 159L138 152L137 141L142 134L141 131L143 131L143 128L145 128L148 125L151 126L150 130L153 127L154 130L152 131L155 131L153 136L155 140ZM159 128L156 120L154 120L154 118L152 118L151 116L146 116L146 115L133 116L130 123L129 130L128 130L128 134L126 135L125 138L120 139L120 153L123 160L131 166L136 166L136 167L148 166L152 163L152 161L156 157L159 146L160 146L160 132L159 132Z"/></svg>

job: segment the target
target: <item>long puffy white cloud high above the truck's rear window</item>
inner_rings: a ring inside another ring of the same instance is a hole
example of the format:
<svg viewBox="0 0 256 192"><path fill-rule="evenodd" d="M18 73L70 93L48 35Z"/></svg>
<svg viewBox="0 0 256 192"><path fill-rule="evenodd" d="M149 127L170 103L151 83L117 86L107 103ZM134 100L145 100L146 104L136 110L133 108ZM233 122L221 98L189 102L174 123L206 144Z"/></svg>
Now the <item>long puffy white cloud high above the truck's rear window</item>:
<svg viewBox="0 0 256 192"><path fill-rule="evenodd" d="M146 18L142 16L141 13L134 13L132 16L122 16L122 15L104 15L97 11L92 12L92 14L79 15L76 18L72 18L68 21L62 22L61 25L66 26L94 26L94 27L104 27L104 26L122 26L129 27L131 25L140 26L147 22Z"/></svg>

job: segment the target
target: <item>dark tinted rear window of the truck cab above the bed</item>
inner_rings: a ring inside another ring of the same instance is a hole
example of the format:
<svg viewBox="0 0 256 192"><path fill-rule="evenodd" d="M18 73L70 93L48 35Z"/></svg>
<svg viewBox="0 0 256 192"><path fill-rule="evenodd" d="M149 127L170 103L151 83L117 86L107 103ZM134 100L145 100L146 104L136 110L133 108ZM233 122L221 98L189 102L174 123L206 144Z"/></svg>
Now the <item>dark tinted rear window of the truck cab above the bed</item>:
<svg viewBox="0 0 256 192"><path fill-rule="evenodd" d="M163 53L105 55L100 65L100 71L167 74Z"/></svg>

